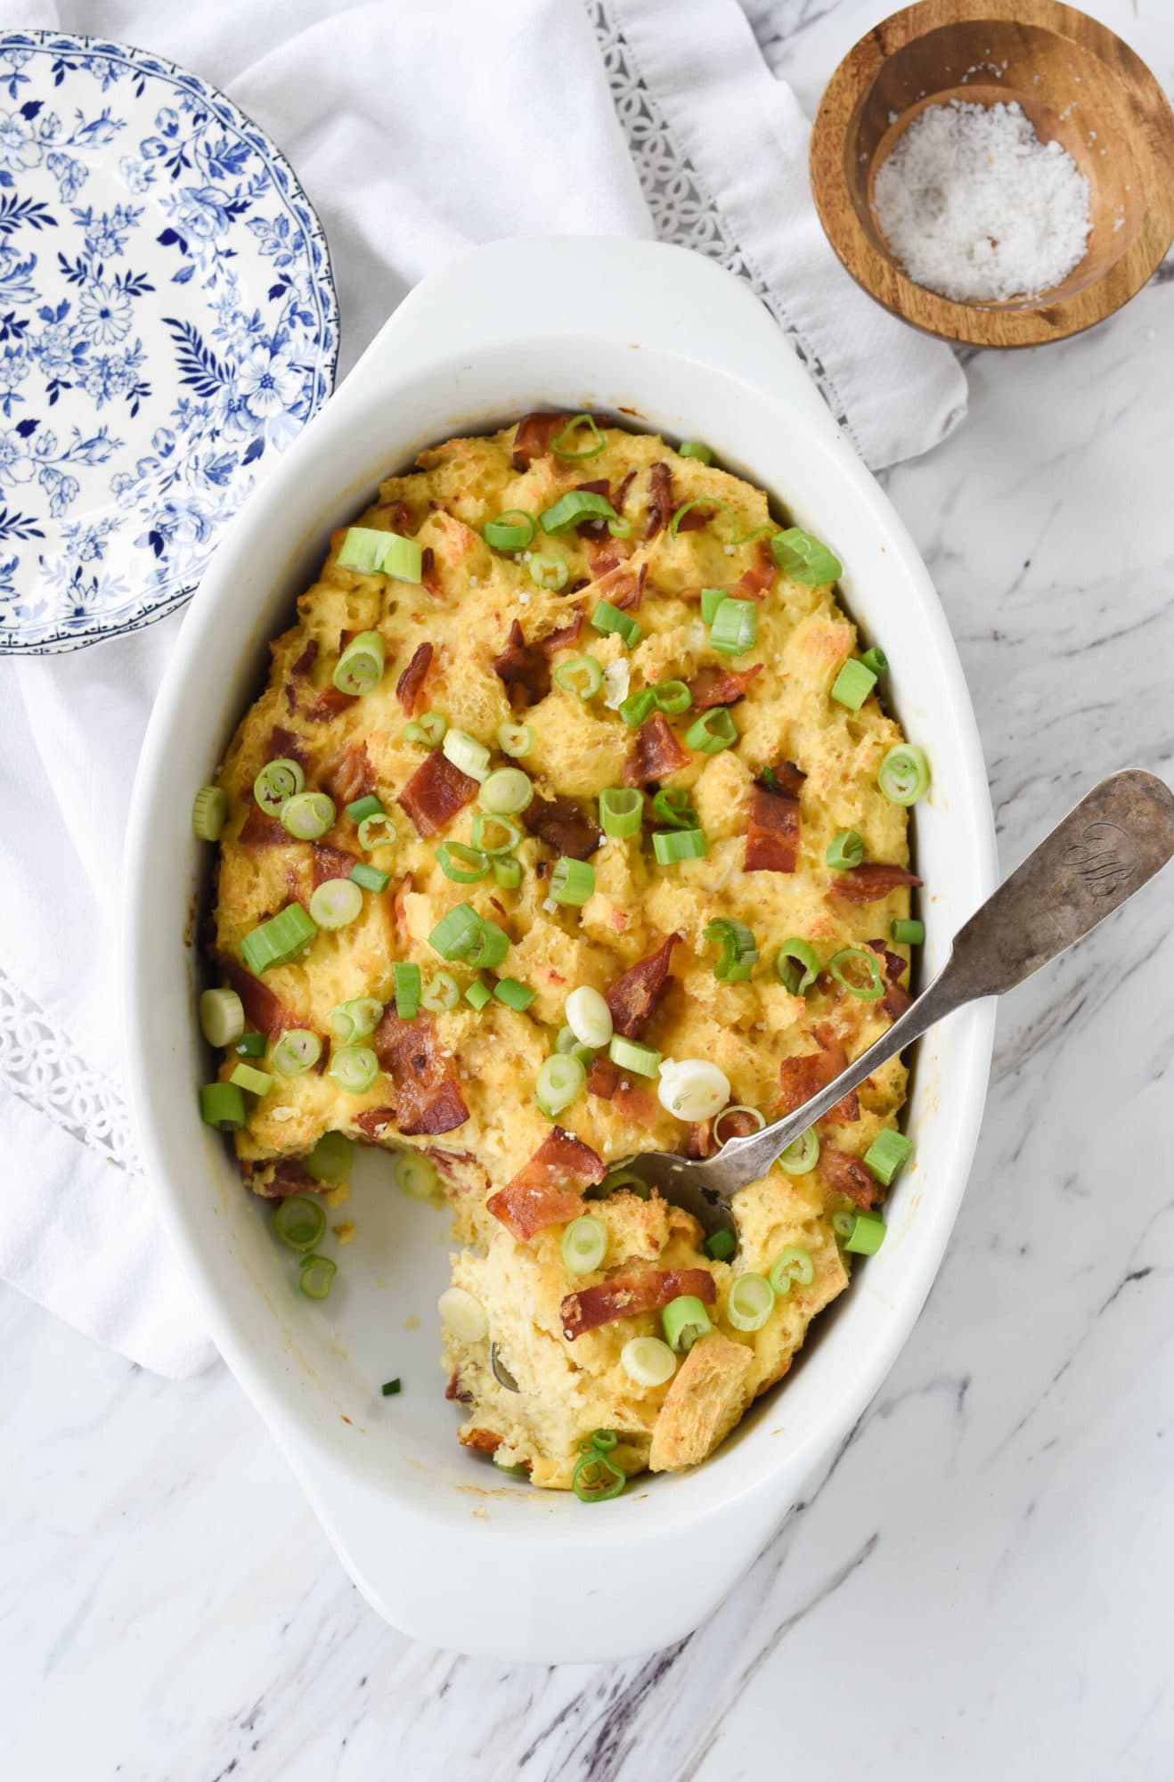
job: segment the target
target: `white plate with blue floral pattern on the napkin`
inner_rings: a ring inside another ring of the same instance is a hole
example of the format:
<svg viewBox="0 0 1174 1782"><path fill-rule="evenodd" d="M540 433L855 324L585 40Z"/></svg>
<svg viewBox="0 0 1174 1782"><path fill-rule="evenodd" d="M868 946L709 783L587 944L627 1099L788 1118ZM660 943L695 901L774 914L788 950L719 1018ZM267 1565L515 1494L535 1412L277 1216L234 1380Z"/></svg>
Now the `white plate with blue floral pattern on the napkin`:
<svg viewBox="0 0 1174 1782"><path fill-rule="evenodd" d="M337 356L326 237L257 125L144 50L0 34L0 654L182 606Z"/></svg>

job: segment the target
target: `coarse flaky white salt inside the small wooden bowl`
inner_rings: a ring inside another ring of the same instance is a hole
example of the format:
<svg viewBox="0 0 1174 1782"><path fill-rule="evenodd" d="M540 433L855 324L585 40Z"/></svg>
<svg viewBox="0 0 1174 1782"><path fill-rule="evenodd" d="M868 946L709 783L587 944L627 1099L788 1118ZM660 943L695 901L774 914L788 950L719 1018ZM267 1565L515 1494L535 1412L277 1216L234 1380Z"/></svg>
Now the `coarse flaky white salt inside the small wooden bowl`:
<svg viewBox="0 0 1174 1782"><path fill-rule="evenodd" d="M873 205L909 276L955 303L1062 283L1085 255L1088 180L1023 107L926 105L876 173Z"/></svg>

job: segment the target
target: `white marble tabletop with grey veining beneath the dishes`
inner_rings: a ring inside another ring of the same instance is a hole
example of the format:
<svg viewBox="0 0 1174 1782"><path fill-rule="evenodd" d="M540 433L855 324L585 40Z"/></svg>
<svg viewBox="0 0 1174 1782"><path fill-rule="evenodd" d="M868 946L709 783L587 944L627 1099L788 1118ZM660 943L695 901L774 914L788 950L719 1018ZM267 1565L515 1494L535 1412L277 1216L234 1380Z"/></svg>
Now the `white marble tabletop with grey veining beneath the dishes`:
<svg viewBox="0 0 1174 1782"><path fill-rule="evenodd" d="M807 103L885 11L748 5ZM1094 11L1170 87L1167 0ZM974 358L967 424L889 478L962 650L1005 866L1101 773L1174 775L1165 271L1085 339ZM723 1609L645 1661L406 1641L223 1369L167 1385L0 1297L0 1773L1167 1778L1169 911L1165 882L1003 1007L971 1189L898 1367Z"/></svg>

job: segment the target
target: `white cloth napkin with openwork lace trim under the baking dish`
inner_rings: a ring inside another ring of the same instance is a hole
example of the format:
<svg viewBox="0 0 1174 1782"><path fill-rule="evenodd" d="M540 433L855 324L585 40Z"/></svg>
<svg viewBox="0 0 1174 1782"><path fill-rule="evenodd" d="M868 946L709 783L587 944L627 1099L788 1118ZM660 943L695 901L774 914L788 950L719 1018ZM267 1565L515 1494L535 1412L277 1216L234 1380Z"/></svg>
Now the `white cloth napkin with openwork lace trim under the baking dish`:
<svg viewBox="0 0 1174 1782"><path fill-rule="evenodd" d="M871 305L823 241L805 119L736 0L16 12L187 64L276 139L330 239L342 372L470 242L661 233L752 280L875 467L966 410L953 355ZM212 1349L128 1135L116 937L134 766L180 622L0 661L0 1278L173 1376Z"/></svg>

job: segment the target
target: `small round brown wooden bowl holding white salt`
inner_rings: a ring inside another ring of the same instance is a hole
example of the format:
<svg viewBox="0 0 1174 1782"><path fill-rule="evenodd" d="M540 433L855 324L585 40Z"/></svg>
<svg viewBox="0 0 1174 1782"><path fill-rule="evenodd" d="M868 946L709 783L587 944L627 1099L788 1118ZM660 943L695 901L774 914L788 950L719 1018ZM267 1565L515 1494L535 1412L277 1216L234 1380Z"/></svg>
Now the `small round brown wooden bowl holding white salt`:
<svg viewBox="0 0 1174 1782"><path fill-rule="evenodd" d="M1092 185L1092 233L1062 285L1008 303L951 303L901 271L873 214L882 160L926 105L1017 100ZM971 346L1040 346L1105 321L1174 239L1174 114L1133 50L1056 0L921 0L876 25L832 75L811 184L836 253L894 315Z"/></svg>

